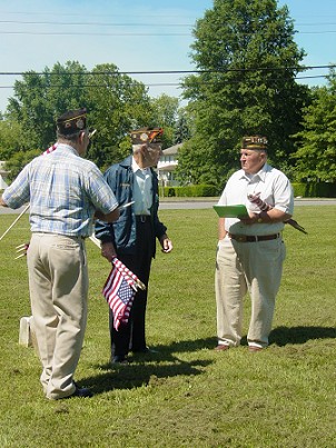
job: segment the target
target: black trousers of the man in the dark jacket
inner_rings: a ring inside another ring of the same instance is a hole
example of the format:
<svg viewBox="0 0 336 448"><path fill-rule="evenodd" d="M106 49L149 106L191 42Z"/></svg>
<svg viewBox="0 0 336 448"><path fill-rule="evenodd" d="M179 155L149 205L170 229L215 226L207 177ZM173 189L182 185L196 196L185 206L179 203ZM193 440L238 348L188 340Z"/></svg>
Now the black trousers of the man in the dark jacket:
<svg viewBox="0 0 336 448"><path fill-rule="evenodd" d="M145 285L146 290L139 289L136 293L130 317L127 325L120 325L118 331L113 328L113 313L110 309L109 328L111 339L111 358L123 358L129 351L142 351L146 349L146 307L148 296L148 281L151 259L154 255L155 237L150 223L150 217L146 220L137 218L136 253L118 253L118 259L123 262Z"/></svg>

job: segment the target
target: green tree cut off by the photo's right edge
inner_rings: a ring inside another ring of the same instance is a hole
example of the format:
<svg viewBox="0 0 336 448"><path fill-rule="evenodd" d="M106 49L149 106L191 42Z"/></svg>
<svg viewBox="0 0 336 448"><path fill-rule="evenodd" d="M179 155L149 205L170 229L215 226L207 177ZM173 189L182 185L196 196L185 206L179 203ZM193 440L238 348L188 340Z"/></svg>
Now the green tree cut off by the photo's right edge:
<svg viewBox="0 0 336 448"><path fill-rule="evenodd" d="M298 181L336 182L336 72L328 84L314 90L314 100L304 112L304 130L298 132L295 153Z"/></svg>

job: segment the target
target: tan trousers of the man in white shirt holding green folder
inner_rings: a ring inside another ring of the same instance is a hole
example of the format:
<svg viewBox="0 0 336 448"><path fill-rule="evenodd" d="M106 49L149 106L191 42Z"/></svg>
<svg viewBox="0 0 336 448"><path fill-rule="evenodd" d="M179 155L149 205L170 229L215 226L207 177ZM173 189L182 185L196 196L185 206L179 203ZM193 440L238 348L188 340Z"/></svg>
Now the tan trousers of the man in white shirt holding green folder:
<svg viewBox="0 0 336 448"><path fill-rule="evenodd" d="M238 242L226 237L219 241L215 273L218 344L239 346L244 297L248 291L251 316L247 341L257 347L268 345L285 257L281 238Z"/></svg>

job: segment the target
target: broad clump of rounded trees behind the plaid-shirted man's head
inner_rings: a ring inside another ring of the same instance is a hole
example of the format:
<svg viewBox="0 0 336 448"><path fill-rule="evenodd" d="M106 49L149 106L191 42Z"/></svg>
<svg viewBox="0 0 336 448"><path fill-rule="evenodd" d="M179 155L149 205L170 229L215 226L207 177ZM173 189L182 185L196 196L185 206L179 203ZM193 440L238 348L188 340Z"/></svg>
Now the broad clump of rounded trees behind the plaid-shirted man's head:
<svg viewBox="0 0 336 448"><path fill-rule="evenodd" d="M88 72L78 62L57 63L16 82L7 120L20 123L19 150L48 148L56 140L57 117L81 107L88 109L89 126L97 129L89 156L101 169L129 152L127 133L134 126L147 126L152 116L145 84L120 74L116 66L100 64ZM27 158L17 158L14 166L20 161Z"/></svg>

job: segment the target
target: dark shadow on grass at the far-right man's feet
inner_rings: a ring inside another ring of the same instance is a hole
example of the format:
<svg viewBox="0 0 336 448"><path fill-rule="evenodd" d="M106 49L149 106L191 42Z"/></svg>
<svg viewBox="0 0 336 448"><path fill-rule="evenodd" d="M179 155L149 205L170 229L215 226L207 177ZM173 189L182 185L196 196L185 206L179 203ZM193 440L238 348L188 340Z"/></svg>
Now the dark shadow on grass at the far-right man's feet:
<svg viewBox="0 0 336 448"><path fill-rule="evenodd" d="M312 339L335 339L333 327L278 327L271 330L269 344L286 346L287 344L305 344Z"/></svg>

